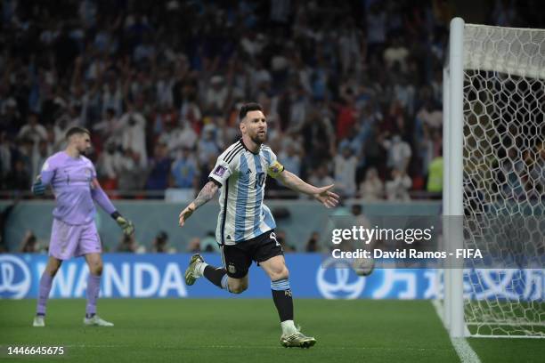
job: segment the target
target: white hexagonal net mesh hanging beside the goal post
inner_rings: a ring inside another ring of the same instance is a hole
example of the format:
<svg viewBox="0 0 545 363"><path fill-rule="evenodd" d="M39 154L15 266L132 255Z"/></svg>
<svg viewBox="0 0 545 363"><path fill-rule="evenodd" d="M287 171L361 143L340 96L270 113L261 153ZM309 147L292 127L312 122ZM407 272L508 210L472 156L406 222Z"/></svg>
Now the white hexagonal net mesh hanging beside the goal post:
<svg viewBox="0 0 545 363"><path fill-rule="evenodd" d="M543 255L545 30L466 25L464 33L466 247L501 261ZM472 335L545 337L545 270L468 267Z"/></svg>

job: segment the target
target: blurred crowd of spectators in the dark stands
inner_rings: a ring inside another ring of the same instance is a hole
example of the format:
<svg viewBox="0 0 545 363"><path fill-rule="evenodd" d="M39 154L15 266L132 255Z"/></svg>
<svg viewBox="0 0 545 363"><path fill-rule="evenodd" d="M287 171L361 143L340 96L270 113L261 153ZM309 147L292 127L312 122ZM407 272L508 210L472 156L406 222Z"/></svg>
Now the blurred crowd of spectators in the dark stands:
<svg viewBox="0 0 545 363"><path fill-rule="evenodd" d="M511 3L490 22L521 25ZM445 1L3 5L3 190L29 190L73 125L92 132L105 190L199 190L244 101L316 185L368 200L441 190Z"/></svg>

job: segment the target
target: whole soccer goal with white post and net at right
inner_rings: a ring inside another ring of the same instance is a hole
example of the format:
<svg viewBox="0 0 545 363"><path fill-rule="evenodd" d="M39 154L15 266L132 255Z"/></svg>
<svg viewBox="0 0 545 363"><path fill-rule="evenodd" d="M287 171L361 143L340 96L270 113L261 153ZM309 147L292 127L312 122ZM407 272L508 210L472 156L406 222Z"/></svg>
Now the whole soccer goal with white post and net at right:
<svg viewBox="0 0 545 363"><path fill-rule="evenodd" d="M545 29L451 20L443 68L443 241L483 246L493 269L448 262L436 302L452 337L545 338L545 266L502 259L545 254ZM498 228L537 233L527 240ZM537 220L525 230L528 219ZM513 257L515 256L515 257ZM542 260L541 260L542 261Z"/></svg>

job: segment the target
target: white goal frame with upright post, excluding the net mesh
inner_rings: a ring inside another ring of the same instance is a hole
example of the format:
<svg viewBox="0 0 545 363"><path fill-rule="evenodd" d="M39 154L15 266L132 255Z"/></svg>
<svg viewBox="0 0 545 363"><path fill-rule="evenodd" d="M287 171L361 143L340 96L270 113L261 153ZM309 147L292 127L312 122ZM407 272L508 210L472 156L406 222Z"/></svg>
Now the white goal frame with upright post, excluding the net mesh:
<svg viewBox="0 0 545 363"><path fill-rule="evenodd" d="M443 218L443 247L450 251L463 248L464 70L492 70L545 79L545 67L542 64L527 62L525 69L517 69L516 65L505 60L502 68L498 69L492 66L493 59L487 58L486 55L478 60L478 64L471 64L469 57L465 57L464 54L466 28L466 23L461 18L451 20L449 50L443 68L443 216L448 216ZM444 222L446 220L449 222ZM543 335L471 335L466 326L464 311L463 264L448 263L449 268L440 269L439 272L442 273L438 273L438 299L435 301L435 307L451 337L545 338ZM455 268L452 268L453 266Z"/></svg>

